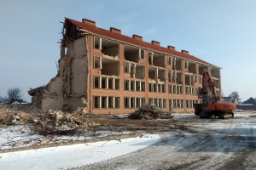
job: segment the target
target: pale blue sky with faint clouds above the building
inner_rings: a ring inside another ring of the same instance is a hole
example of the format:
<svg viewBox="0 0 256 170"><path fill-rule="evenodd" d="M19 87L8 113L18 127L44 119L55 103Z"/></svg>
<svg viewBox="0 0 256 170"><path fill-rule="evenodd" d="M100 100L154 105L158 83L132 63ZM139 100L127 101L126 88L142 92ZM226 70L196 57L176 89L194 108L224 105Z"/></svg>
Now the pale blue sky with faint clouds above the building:
<svg viewBox="0 0 256 170"><path fill-rule="evenodd" d="M222 67L224 95L256 98L256 1L254 0L0 0L0 96L8 88L45 85L57 73L64 17L96 21L143 41L185 49Z"/></svg>

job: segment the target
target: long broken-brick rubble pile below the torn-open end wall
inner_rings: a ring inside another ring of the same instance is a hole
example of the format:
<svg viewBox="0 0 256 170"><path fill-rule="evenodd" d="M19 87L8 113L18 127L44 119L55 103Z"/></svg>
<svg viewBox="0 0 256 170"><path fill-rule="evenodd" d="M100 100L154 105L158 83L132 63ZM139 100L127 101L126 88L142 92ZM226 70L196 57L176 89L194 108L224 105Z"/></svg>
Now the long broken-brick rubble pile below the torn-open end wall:
<svg viewBox="0 0 256 170"><path fill-rule="evenodd" d="M73 113L53 110L41 113L33 106L23 109L14 106L0 107L0 123L5 125L30 124L33 132L44 136L85 133L93 127L100 126L98 123L90 122L90 117L93 115L84 108L79 108Z"/></svg>

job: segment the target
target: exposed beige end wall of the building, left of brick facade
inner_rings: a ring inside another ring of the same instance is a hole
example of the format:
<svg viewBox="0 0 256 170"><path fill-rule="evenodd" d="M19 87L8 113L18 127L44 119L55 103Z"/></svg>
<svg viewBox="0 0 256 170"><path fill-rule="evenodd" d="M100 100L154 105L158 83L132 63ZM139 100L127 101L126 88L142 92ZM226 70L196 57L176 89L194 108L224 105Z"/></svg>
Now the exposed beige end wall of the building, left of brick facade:
<svg viewBox="0 0 256 170"><path fill-rule="evenodd" d="M88 88L88 59L86 37L79 37L61 47L58 74L42 91L42 111L75 111L86 107Z"/></svg>

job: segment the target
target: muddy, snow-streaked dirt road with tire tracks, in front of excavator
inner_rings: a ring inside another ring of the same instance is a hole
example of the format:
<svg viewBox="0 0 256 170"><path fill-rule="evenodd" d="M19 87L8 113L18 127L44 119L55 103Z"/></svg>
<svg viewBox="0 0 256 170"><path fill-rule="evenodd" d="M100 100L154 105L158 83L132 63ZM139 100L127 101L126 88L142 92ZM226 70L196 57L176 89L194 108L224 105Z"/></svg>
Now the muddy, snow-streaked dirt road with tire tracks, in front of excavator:
<svg viewBox="0 0 256 170"><path fill-rule="evenodd" d="M121 127L158 133L160 140L143 150L73 169L256 169L256 116L219 120L177 114L172 120L127 126Z"/></svg>

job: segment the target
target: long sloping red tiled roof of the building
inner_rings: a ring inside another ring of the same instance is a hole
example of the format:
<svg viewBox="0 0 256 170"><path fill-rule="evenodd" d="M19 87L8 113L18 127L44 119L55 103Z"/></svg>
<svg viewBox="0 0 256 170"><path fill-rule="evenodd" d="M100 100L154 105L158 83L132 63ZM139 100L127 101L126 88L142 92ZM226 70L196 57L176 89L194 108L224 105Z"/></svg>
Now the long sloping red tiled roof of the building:
<svg viewBox="0 0 256 170"><path fill-rule="evenodd" d="M178 52L178 51L175 51L175 50L172 50L172 49L160 47L160 46L154 45L154 44L149 43L149 42L143 42L143 41L137 40L133 37L127 37L125 35L117 34L117 33L114 33L112 31L108 31L108 30L105 30L105 29L102 29L102 28L99 28L99 27L96 27L96 26L89 26L89 25L86 25L86 24L84 24L82 22L79 22L77 20L72 20L72 19L68 19L68 18L66 18L66 19L69 20L71 23L73 23L73 25L78 26L81 29L93 32L95 34L98 34L98 35L101 35L101 36L104 36L104 37L110 37L110 38L113 38L113 39L116 39L116 40L119 40L119 41L129 42L131 44L135 44L135 45L138 45L138 46L141 46L141 47L144 47L144 48L150 48L150 49L153 49L153 50L165 53L165 54L173 54L173 55L182 57L184 59L190 59L190 60L200 62L202 64L212 65L212 64L207 63L206 61L204 61L202 59L196 58L193 55L183 54L181 52Z"/></svg>

